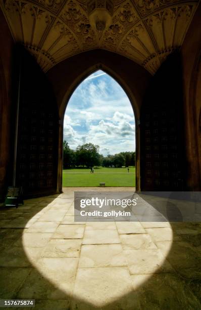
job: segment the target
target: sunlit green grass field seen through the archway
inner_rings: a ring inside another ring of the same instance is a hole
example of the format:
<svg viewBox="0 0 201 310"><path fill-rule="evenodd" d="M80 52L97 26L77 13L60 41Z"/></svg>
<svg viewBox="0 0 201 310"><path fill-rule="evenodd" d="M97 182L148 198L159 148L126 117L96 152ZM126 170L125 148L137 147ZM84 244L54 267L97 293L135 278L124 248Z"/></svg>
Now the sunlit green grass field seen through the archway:
<svg viewBox="0 0 201 310"><path fill-rule="evenodd" d="M106 186L135 186L135 167L127 168L94 168L65 169L63 170L63 186L99 186L105 182Z"/></svg>

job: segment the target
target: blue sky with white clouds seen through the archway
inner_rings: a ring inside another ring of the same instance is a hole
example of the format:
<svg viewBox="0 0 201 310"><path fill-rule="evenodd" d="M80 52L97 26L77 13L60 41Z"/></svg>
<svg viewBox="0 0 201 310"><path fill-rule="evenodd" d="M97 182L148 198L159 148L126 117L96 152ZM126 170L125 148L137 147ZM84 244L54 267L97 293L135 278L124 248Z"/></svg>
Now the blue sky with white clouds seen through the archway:
<svg viewBox="0 0 201 310"><path fill-rule="evenodd" d="M98 70L72 94L64 117L64 140L72 149L99 145L107 156L135 150L135 119L131 103L110 75Z"/></svg>

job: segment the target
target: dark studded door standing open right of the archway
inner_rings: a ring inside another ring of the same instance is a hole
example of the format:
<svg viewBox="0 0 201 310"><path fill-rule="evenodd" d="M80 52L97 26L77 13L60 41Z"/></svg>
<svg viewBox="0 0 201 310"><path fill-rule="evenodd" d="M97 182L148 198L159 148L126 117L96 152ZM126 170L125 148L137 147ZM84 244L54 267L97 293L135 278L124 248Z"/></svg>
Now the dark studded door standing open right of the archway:
<svg viewBox="0 0 201 310"><path fill-rule="evenodd" d="M141 190L183 190L185 147L179 54L153 77L140 119Z"/></svg>

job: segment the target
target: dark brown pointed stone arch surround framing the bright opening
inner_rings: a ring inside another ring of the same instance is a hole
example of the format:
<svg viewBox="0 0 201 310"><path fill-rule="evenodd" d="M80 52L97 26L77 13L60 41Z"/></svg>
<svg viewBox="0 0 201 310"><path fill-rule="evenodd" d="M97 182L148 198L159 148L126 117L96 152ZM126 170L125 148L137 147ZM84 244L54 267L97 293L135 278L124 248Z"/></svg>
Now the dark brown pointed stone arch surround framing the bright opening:
<svg viewBox="0 0 201 310"><path fill-rule="evenodd" d="M66 59L47 72L47 76L49 80L51 80L55 90L60 117L58 192L62 191L63 118L67 102L76 87L89 74L100 68L111 75L112 78L120 84L127 94L134 110L137 149L136 189L140 190L139 111L151 75L141 66L126 57L105 50L93 50Z"/></svg>

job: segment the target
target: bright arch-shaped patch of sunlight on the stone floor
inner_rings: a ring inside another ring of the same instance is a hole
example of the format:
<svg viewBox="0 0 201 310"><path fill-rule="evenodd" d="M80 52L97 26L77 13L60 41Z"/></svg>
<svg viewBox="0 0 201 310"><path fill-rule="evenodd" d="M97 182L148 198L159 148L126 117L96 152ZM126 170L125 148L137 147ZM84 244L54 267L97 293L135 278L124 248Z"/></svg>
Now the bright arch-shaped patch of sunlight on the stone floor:
<svg viewBox="0 0 201 310"><path fill-rule="evenodd" d="M46 205L23 231L23 249L35 269L19 297L68 297L78 300L75 307L82 302L103 307L123 298L131 305L133 294L154 274L173 272L166 260L173 241L170 223L74 222L73 199L71 188L49 203L34 200L35 206Z"/></svg>

